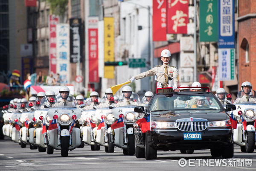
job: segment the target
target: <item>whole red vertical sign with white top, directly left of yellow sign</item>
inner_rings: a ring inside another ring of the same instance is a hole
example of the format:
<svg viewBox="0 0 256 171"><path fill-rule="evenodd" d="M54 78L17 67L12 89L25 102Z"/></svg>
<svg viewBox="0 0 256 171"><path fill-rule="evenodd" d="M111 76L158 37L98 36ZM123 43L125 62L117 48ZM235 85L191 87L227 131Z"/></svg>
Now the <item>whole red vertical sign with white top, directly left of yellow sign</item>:
<svg viewBox="0 0 256 171"><path fill-rule="evenodd" d="M98 17L88 17L88 67L89 82L99 82Z"/></svg>

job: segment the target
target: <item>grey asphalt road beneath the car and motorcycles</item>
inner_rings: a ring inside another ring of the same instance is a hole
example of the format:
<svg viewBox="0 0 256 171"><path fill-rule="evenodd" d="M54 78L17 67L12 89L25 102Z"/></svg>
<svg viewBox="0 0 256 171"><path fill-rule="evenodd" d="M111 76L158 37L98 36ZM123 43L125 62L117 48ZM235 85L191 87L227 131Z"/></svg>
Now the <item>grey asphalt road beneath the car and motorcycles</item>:
<svg viewBox="0 0 256 171"><path fill-rule="evenodd" d="M137 159L125 156L122 149L106 153L105 148L91 151L89 145L69 151L68 157L61 157L60 151L46 152L20 148L18 143L5 137L0 140L1 171L241 171L256 170L256 150L247 154L235 145L234 157L222 159L211 157L209 150L196 150L194 154L180 154L180 151L157 151L157 159ZM185 165L181 167L180 165ZM220 166L218 166L220 165ZM232 166L233 165L233 166Z"/></svg>

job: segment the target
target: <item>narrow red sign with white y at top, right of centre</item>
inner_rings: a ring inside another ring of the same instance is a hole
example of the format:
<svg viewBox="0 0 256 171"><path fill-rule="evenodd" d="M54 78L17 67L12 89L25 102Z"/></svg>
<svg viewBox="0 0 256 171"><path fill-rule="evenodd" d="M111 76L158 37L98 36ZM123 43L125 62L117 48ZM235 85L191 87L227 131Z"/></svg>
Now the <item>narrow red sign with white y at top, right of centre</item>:
<svg viewBox="0 0 256 171"><path fill-rule="evenodd" d="M167 0L153 0L153 41L166 41Z"/></svg>

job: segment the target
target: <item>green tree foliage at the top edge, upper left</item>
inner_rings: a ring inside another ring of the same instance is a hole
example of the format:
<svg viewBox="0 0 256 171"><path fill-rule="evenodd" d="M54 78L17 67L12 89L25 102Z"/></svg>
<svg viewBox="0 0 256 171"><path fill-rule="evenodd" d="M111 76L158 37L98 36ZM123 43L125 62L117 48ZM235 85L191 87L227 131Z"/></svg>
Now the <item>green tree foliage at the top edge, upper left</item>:
<svg viewBox="0 0 256 171"><path fill-rule="evenodd" d="M47 0L52 14L63 15L66 11L68 0Z"/></svg>

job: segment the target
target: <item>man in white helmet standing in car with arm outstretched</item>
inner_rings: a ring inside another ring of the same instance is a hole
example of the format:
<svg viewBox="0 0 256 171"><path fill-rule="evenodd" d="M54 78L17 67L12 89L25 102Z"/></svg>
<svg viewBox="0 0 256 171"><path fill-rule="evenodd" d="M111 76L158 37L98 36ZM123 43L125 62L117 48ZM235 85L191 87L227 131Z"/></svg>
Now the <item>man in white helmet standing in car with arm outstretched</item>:
<svg viewBox="0 0 256 171"><path fill-rule="evenodd" d="M157 88L172 87L173 90L177 89L178 70L176 67L169 65L170 59L171 52L167 49L164 49L161 52L161 61L163 61L163 65L157 65L151 70L135 75L128 81L133 82L141 78L155 75L155 80L157 81ZM173 91L172 89L158 90L158 93L170 92Z"/></svg>

